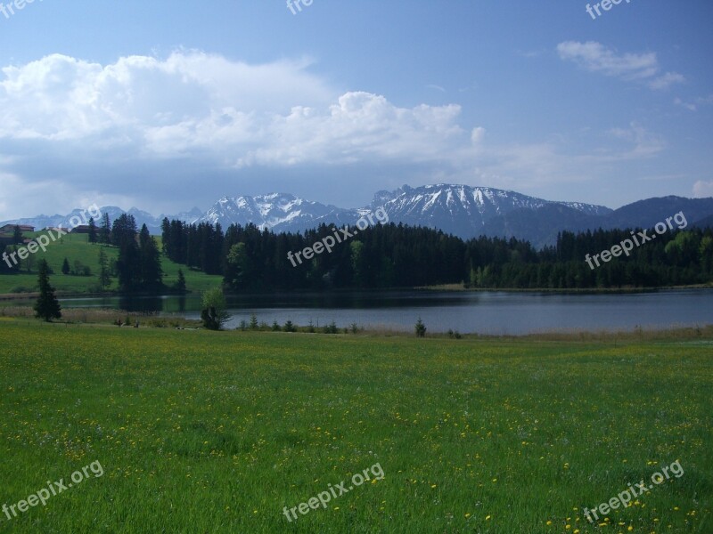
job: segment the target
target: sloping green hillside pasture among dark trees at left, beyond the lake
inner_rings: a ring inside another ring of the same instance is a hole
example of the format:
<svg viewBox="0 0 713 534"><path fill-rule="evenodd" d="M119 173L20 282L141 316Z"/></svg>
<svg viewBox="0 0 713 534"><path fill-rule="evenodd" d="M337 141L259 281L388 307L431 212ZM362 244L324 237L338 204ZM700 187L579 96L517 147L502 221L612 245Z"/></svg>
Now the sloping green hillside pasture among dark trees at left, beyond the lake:
<svg viewBox="0 0 713 534"><path fill-rule="evenodd" d="M45 232L25 233L28 239L35 238ZM160 239L157 239L160 247ZM54 271L50 277L50 282L58 292L64 294L86 294L91 293L99 286L99 250L101 245L89 243L87 234L69 234L61 239L51 242L46 251L38 250L36 254L29 255L30 271L27 270L27 260L20 263L20 273L12 275L0 275L0 295L17 294L37 291L37 263L45 259ZM115 260L119 254L117 247L103 247L104 253L111 260ZM73 268L74 261L78 260L84 265L88 265L92 271L91 276L64 275L61 272L61 265L64 258ZM12 260L11 260L12 261ZM166 255L161 255L161 268L164 272L163 282L168 287L173 286L178 279L178 270L183 269L185 284L189 291L202 292L210 287L216 287L222 282L222 277L212 276L200 271L191 271L185 265L171 262ZM118 281L111 279L109 290L116 290Z"/></svg>

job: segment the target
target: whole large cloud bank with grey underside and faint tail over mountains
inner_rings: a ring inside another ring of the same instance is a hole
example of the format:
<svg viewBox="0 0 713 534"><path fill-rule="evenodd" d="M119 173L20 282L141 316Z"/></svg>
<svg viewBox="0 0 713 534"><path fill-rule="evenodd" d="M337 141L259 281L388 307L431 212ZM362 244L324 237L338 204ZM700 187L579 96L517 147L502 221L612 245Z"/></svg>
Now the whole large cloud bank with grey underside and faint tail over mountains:
<svg viewBox="0 0 713 534"><path fill-rule="evenodd" d="M579 150L556 134L496 144L501 125L488 133L463 125L455 103L403 107L337 89L310 68L307 60L249 65L194 51L109 65L53 54L5 67L0 219L93 202L171 213L225 194L299 188L324 201L335 177L362 190L436 177L521 189L583 182L664 146L634 124L611 131L604 146L589 133Z"/></svg>

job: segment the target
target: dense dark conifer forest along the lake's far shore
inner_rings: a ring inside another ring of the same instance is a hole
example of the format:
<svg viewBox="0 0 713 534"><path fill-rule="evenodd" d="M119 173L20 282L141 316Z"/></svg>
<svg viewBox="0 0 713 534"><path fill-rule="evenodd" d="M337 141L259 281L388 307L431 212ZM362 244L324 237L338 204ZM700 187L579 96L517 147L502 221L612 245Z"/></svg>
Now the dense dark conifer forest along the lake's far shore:
<svg viewBox="0 0 713 534"><path fill-rule="evenodd" d="M354 231L355 229L351 229ZM630 237L630 231L561 232L553 247L517 239L455 238L442 231L379 224L304 263L288 259L335 235L322 225L301 233L260 231L254 225L186 224L165 219L164 252L176 263L223 275L235 292L291 289L420 287L660 287L713 279L713 231L668 232L594 269L585 262Z"/></svg>

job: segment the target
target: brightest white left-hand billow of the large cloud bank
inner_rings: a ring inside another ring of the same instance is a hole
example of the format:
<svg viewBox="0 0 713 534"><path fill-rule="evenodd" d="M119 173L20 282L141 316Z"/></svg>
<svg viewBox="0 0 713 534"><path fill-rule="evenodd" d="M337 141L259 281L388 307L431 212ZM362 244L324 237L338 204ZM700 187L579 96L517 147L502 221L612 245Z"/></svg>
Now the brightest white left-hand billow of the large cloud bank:
<svg viewBox="0 0 713 534"><path fill-rule="evenodd" d="M53 54L2 69L0 136L82 139L114 130L119 139L133 139L221 109L280 112L294 101L329 101L334 91L307 66L251 66L197 52L176 52L164 61L129 56L102 66Z"/></svg>

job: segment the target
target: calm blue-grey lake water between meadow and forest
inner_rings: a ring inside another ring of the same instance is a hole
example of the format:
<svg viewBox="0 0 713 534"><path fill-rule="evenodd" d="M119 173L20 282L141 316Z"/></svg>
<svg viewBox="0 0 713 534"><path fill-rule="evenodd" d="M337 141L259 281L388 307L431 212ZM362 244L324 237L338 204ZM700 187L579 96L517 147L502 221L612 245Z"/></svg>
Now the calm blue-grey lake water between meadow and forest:
<svg viewBox="0 0 713 534"><path fill-rule="evenodd" d="M200 318L200 297L63 299L61 305L129 311L178 313ZM406 291L338 295L250 295L228 298L233 319L322 327L413 331L421 317L430 332L521 335L571 330L632 330L713 324L713 289L635 294L563 295L553 293Z"/></svg>

